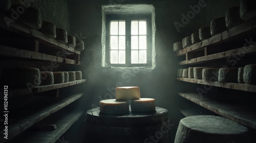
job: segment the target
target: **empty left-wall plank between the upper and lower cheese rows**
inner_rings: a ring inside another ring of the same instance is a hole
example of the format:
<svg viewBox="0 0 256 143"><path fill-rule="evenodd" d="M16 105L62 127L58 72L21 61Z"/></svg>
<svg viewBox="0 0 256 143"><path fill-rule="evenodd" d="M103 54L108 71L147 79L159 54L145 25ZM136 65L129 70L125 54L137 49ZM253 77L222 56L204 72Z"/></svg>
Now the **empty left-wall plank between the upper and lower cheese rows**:
<svg viewBox="0 0 256 143"><path fill-rule="evenodd" d="M76 64L75 60L65 59L57 56L47 55L47 54L28 51L28 50L16 49L16 48L5 46L5 45L0 45L0 55L17 57L17 58L28 58L28 59L34 59L34 60L44 60L44 61Z"/></svg>

